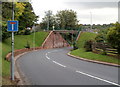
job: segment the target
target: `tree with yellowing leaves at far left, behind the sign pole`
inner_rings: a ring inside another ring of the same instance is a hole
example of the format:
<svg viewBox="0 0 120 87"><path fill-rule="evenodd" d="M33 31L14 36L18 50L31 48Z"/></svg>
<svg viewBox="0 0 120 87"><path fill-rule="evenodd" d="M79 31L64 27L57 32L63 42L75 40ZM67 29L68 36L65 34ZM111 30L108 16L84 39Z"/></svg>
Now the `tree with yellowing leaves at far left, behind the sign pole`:
<svg viewBox="0 0 120 87"><path fill-rule="evenodd" d="M15 20L22 15L25 4L14 3L15 8ZM10 32L7 32L7 21L12 20L12 2L2 2L2 39L6 39L11 36Z"/></svg>

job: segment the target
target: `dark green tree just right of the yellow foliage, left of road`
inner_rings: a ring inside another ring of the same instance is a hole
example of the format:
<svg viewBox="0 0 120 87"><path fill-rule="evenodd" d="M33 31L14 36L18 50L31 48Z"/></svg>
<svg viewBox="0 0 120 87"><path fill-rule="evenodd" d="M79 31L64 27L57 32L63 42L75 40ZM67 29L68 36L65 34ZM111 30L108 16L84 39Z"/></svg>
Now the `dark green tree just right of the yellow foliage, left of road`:
<svg viewBox="0 0 120 87"><path fill-rule="evenodd" d="M22 30L25 30L29 27L32 28L32 26L37 22L38 16L35 15L33 12L32 5L29 2L24 2L25 3L25 9L24 12L22 13L21 16L19 16L19 30L18 34L23 34L21 33Z"/></svg>

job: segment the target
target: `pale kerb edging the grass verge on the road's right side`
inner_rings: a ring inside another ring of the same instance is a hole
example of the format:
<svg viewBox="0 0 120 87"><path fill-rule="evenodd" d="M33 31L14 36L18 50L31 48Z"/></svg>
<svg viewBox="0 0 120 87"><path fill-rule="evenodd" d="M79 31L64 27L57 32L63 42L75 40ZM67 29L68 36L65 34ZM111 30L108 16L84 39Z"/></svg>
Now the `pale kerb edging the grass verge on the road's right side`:
<svg viewBox="0 0 120 87"><path fill-rule="evenodd" d="M97 61L97 60L85 59L85 58L82 58L82 57L74 56L74 55L72 55L70 53L71 52L68 52L67 55L71 56L73 58L79 59L79 60L83 60L83 61L87 61L87 62L93 62L93 63L98 63L98 64L103 64L103 65L108 65L108 66L120 67L120 65L117 65L117 64L107 63L107 62L102 62L102 61Z"/></svg>

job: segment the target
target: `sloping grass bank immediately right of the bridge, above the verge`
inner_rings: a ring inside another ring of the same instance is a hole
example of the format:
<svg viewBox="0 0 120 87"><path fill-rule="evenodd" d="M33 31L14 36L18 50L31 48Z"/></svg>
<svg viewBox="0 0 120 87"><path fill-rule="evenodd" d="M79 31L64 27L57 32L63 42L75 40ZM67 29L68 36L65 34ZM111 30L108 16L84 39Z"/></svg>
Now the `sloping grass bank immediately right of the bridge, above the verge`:
<svg viewBox="0 0 120 87"><path fill-rule="evenodd" d="M96 37L95 33L84 32L81 34L80 38L78 39L77 46L79 48L83 48L87 40L94 40L95 37Z"/></svg>

